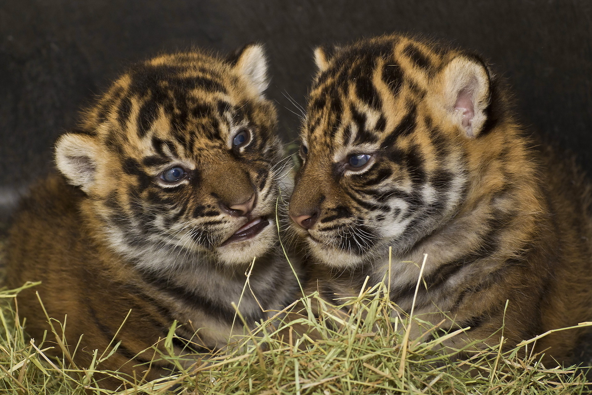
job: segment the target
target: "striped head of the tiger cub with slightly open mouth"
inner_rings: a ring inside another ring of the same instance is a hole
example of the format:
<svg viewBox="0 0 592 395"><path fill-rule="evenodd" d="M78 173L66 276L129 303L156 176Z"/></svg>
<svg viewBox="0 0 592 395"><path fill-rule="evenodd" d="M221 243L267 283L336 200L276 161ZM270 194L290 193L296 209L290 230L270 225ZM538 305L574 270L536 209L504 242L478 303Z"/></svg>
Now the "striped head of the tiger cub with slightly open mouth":
<svg viewBox="0 0 592 395"><path fill-rule="evenodd" d="M112 248L139 264L250 262L277 239L282 146L267 86L258 45L226 60L156 57L115 81L81 131L57 140L57 168L88 195L83 207Z"/></svg>

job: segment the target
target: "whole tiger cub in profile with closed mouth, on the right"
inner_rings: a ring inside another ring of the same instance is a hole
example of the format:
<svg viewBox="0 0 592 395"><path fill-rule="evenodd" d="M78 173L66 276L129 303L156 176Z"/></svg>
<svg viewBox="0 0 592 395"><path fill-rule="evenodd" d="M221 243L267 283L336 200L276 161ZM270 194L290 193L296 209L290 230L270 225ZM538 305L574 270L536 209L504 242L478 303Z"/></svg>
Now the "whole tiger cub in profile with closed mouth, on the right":
<svg viewBox="0 0 592 395"><path fill-rule="evenodd" d="M537 146L480 57L406 36L317 49L289 213L313 256L308 290L390 297L446 329L511 348L592 319L589 186ZM507 310L506 300L509 300ZM448 312L447 314L445 314ZM578 359L582 331L546 336L545 361Z"/></svg>

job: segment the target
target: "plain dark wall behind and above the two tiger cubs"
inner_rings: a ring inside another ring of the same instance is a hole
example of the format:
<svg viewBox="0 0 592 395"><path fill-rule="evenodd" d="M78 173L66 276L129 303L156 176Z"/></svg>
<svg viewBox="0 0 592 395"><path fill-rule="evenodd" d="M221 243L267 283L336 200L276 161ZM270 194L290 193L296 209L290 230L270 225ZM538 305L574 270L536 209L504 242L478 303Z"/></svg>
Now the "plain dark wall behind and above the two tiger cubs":
<svg viewBox="0 0 592 395"><path fill-rule="evenodd" d="M268 96L295 139L318 44L393 31L481 53L514 86L533 133L571 149L592 174L592 2L4 0L0 4L0 220L47 172L56 137L131 62L200 46L266 44ZM294 113L293 113L294 112ZM4 214L2 214L4 213Z"/></svg>

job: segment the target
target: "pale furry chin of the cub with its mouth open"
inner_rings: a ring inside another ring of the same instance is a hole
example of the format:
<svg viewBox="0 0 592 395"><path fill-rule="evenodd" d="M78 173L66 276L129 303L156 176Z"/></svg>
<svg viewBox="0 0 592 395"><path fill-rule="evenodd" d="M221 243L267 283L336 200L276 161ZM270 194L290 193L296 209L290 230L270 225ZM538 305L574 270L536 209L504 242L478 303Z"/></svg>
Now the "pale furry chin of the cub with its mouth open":
<svg viewBox="0 0 592 395"><path fill-rule="evenodd" d="M254 258L262 258L262 256L266 255L277 240L278 232L275 221L269 220L269 224L257 235L246 240L224 243L216 249L215 253L221 264L250 264Z"/></svg>

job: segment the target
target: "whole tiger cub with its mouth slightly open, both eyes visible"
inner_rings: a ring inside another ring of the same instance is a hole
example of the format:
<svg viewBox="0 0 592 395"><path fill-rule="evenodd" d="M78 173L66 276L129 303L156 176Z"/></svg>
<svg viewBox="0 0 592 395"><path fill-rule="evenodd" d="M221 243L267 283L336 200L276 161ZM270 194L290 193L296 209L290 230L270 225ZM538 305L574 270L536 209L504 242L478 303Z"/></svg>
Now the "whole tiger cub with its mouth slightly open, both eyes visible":
<svg viewBox="0 0 592 395"><path fill-rule="evenodd" d="M256 44L229 60L156 57L117 79L81 129L57 140L61 176L33 188L8 242L8 285L42 281L18 296L31 337L49 329L38 291L65 323L71 351L81 339L76 364L88 367L114 339L121 345L99 368L142 377L150 346L175 320L179 353L208 352L227 344L231 327L243 333L232 302L252 324L292 301L298 282L276 225L282 144L267 86ZM166 367L152 362L147 377Z"/></svg>

